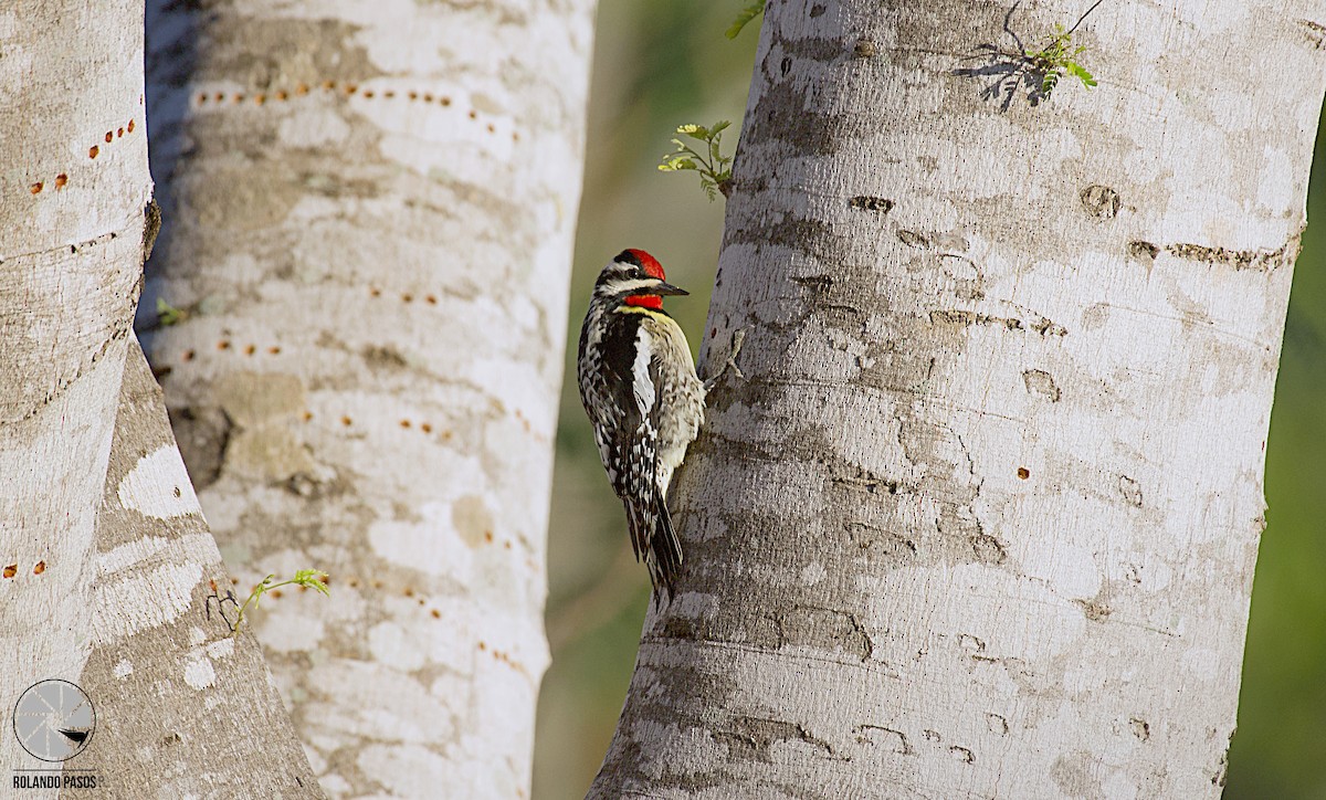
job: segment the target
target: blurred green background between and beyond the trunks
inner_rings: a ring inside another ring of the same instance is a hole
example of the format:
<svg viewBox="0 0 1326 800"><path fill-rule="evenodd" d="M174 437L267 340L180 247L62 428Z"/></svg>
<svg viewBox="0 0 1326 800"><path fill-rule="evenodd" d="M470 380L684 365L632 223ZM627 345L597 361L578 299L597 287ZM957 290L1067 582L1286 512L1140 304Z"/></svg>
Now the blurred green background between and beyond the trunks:
<svg viewBox="0 0 1326 800"><path fill-rule="evenodd" d="M582 797L626 697L648 581L634 564L621 504L598 463L574 383L574 348L594 276L625 247L652 252L668 301L699 346L723 233L723 200L692 174L655 166L683 122L731 119L736 146L758 20L723 36L744 3L601 0L572 313L557 434L549 541L548 630L534 751L534 799ZM1318 142L1318 162L1326 149ZM1319 174L1322 170L1318 170ZM1309 214L1326 219L1314 175ZM1269 527L1262 536L1229 800L1326 800L1326 226L1298 259L1268 444Z"/></svg>

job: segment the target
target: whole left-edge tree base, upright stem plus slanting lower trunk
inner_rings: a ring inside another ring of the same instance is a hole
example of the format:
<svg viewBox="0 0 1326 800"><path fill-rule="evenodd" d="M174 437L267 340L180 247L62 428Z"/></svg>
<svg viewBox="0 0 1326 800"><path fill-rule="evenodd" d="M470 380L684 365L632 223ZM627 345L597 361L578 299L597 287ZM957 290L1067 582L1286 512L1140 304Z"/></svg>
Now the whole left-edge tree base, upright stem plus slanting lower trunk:
<svg viewBox="0 0 1326 800"><path fill-rule="evenodd" d="M95 710L61 718L90 736L61 751L28 707L0 760L28 781L69 767L118 797L320 796L257 643L207 622L220 559L133 340L159 219L142 20L141 0L46 4L0 57L0 84L21 88L0 94L17 145L0 147L0 702L8 718L64 681ZM62 714L80 703L65 697Z"/></svg>

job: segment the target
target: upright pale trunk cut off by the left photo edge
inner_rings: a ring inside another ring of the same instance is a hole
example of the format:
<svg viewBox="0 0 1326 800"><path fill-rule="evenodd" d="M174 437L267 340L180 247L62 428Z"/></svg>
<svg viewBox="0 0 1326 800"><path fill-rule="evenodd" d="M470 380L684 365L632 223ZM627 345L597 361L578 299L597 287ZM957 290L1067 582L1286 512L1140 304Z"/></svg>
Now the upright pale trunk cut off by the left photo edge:
<svg viewBox="0 0 1326 800"><path fill-rule="evenodd" d="M93 645L93 528L151 196L142 11L141 0L0 9L5 720L32 683L77 681ZM9 730L0 763L40 766Z"/></svg>

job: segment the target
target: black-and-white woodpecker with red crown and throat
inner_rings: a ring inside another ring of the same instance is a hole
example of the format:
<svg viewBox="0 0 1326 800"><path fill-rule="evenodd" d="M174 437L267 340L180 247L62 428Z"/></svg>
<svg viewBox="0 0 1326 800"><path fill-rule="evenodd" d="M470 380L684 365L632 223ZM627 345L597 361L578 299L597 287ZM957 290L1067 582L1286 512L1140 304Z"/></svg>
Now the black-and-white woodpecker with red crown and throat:
<svg viewBox="0 0 1326 800"><path fill-rule="evenodd" d="M667 511L672 471L704 422L704 385L686 334L663 310L664 280L642 249L603 268L581 328L581 401L613 490L626 505L635 559L644 559L654 596L671 597L682 543Z"/></svg>

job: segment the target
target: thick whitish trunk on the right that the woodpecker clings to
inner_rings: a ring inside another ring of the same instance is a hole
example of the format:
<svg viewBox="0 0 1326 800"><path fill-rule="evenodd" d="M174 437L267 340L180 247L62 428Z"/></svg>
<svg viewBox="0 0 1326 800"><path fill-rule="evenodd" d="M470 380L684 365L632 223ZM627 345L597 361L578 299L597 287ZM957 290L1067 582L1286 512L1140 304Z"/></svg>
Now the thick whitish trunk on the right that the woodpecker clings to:
<svg viewBox="0 0 1326 800"><path fill-rule="evenodd" d="M1326 19L1106 3L1101 86L1001 113L1006 12L769 4L708 332L749 381L591 796L1219 796Z"/></svg>

